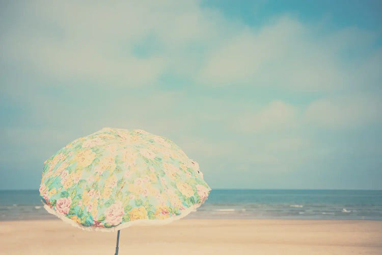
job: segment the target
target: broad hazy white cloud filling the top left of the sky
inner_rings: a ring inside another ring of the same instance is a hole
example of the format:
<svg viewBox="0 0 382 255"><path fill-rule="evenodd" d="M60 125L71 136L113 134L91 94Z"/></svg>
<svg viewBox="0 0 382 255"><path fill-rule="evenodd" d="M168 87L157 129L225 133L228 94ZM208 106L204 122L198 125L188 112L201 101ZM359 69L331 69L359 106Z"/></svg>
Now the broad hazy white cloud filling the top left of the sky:
<svg viewBox="0 0 382 255"><path fill-rule="evenodd" d="M131 87L153 84L169 68L189 74L199 65L194 46L224 32L216 29L221 15L195 1L33 2L23 8L0 39L2 55L60 81ZM158 50L136 56L134 47L147 38Z"/></svg>

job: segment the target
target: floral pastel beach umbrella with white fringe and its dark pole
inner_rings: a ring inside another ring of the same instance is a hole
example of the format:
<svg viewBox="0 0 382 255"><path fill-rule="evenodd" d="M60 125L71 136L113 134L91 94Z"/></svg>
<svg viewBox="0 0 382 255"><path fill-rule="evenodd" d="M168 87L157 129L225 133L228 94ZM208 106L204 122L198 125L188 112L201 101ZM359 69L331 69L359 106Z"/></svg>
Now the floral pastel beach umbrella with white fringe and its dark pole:
<svg viewBox="0 0 382 255"><path fill-rule="evenodd" d="M185 217L211 191L196 161L171 140L104 128L44 162L40 196L60 219L91 231L163 224Z"/></svg>

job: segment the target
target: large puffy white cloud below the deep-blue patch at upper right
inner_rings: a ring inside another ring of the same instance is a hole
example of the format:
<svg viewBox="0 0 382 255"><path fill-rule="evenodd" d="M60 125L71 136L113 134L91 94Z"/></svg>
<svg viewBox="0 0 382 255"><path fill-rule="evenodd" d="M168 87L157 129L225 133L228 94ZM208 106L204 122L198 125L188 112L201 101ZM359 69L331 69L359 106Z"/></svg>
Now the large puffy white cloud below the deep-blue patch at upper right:
<svg viewBox="0 0 382 255"><path fill-rule="evenodd" d="M208 52L199 82L333 91L363 86L363 79L368 77L368 86L375 85L378 79L371 78L380 78L377 68L382 67L378 49L370 50L376 56L363 58L364 63L359 58L346 61L344 54L349 50L369 49L377 38L376 33L347 28L317 37L318 33L314 25L302 24L288 16L275 19L258 31L242 27L231 39ZM362 36L362 40L353 40L352 46L346 43L349 38ZM358 70L363 66L363 71Z"/></svg>

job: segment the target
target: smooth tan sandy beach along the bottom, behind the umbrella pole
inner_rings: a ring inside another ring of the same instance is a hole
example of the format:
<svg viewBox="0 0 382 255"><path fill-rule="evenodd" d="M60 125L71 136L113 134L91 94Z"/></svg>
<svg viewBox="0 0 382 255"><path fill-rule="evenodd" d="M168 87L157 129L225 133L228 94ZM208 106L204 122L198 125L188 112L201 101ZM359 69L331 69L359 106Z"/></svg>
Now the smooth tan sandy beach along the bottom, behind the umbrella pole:
<svg viewBox="0 0 382 255"><path fill-rule="evenodd" d="M0 222L0 254L114 254L117 233ZM382 254L382 221L182 219L121 231L120 254Z"/></svg>

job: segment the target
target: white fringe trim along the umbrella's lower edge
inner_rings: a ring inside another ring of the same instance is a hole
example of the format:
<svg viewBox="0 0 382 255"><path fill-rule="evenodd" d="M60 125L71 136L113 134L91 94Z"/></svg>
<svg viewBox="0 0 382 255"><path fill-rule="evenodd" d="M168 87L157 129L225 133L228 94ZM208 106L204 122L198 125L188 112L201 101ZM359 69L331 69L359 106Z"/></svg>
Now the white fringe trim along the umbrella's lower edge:
<svg viewBox="0 0 382 255"><path fill-rule="evenodd" d="M156 219L156 220L142 219L142 220L134 220L134 221L129 221L129 222L125 222L125 223L119 224L118 226L114 226L114 227L83 226L83 225L81 225L81 224L79 224L79 223L77 223L77 222L75 222L75 221L65 217L64 214L60 214L60 213L54 211L53 209L51 209L47 205L44 205L44 208L45 208L45 210L48 213L56 215L57 217L62 219L64 222L66 222L66 223L68 223L68 224L70 224L72 226L81 228L81 230L86 230L86 231L101 231L101 232L115 232L115 231L121 230L122 228L129 227L129 226L132 226L132 225L164 225L164 224L168 224L170 222L173 222L174 220L179 220L181 218L184 218L185 216L187 216L191 212L195 212L196 209L199 208L201 205L202 205L202 203L196 203L193 207L190 207L190 208L187 208L187 209L183 210L180 215L170 216L167 219Z"/></svg>

